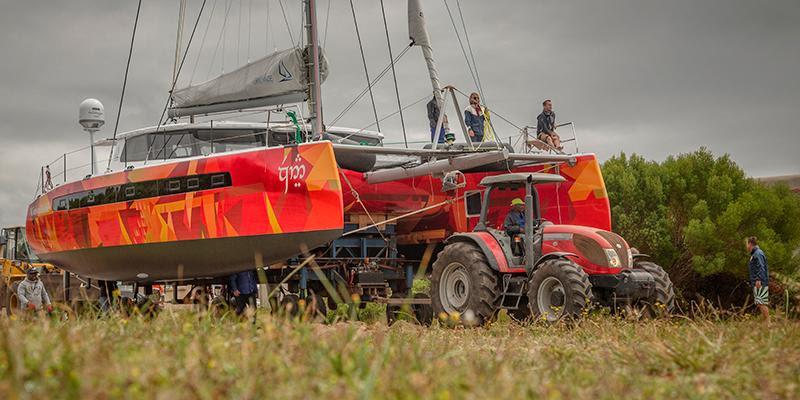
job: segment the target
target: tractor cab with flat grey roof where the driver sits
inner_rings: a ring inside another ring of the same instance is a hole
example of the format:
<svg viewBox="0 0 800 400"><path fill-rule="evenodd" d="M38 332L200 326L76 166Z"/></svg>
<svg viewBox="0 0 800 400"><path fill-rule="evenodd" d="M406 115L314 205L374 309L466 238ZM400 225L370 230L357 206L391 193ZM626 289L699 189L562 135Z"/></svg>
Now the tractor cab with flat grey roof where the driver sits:
<svg viewBox="0 0 800 400"><path fill-rule="evenodd" d="M542 219L539 206L539 193L536 185L545 183L564 182L561 175L544 173L512 173L487 176L480 185L486 188L484 201L481 205L481 215L474 232L487 232L497 239L501 247L506 250L507 259L514 267L524 267L531 271L542 256L542 229L551 224ZM525 189L523 229L518 232L509 232L506 229L491 228L487 222L489 205L492 195L499 191L519 191Z"/></svg>

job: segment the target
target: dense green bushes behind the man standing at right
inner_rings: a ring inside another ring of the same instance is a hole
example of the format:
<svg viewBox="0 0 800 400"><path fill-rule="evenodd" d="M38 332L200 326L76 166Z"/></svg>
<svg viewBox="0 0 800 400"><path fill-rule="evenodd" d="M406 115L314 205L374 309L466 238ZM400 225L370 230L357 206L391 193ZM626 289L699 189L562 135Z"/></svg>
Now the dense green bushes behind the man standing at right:
<svg viewBox="0 0 800 400"><path fill-rule="evenodd" d="M800 196L786 185L749 178L706 148L663 162L620 153L602 170L614 231L664 266L685 299L741 305L747 236L758 237L776 283L800 278Z"/></svg>

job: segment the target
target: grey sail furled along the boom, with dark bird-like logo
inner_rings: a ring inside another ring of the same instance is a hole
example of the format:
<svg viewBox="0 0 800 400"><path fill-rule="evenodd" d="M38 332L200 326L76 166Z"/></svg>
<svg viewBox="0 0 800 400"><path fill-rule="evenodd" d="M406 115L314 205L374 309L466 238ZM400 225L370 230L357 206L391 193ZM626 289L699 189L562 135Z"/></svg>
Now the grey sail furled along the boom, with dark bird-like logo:
<svg viewBox="0 0 800 400"><path fill-rule="evenodd" d="M222 74L210 81L172 93L170 117L235 111L307 99L308 74L305 49L286 49ZM320 51L324 82L328 63Z"/></svg>

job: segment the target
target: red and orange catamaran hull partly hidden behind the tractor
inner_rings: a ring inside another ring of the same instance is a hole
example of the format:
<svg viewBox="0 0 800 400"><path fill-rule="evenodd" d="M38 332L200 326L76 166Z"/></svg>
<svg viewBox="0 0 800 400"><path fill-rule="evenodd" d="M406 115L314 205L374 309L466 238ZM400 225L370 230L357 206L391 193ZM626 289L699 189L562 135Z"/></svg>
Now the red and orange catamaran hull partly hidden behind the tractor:
<svg viewBox="0 0 800 400"><path fill-rule="evenodd" d="M567 164L547 164L514 168L513 172L557 173L566 178L559 184L538 185L542 217L557 224L590 226L611 230L611 207L606 193L605 182L600 165L594 154L576 156L573 166ZM400 244L421 244L441 242L452 233L471 231L478 221L476 214L467 214L466 200L462 196L470 192L482 191L481 179L508 171L475 172L464 174L465 186L455 192L441 191L442 180L432 176L403 179L393 182L369 184L363 174L342 170L344 181L344 210L346 214L370 214L393 217L458 198L452 204L404 217L397 221L398 242ZM348 187L347 181L358 193L356 197ZM493 207L489 209L489 221L493 226L501 226L508 205L514 197L524 193L496 193Z"/></svg>

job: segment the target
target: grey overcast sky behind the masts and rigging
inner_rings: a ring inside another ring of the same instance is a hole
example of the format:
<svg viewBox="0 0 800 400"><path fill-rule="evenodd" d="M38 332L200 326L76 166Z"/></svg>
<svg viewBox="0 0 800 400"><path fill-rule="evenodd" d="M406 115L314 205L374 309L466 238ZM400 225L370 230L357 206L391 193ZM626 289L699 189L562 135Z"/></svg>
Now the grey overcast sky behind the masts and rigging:
<svg viewBox="0 0 800 400"><path fill-rule="evenodd" d="M282 1L296 41L301 2ZM318 11L330 63L327 121L365 85L349 2L330 1L329 14L327 0ZM185 38L202 1L189 3ZM389 60L380 2L354 3L374 77ZM385 3L397 55L408 43L406 2ZM456 1L447 4L461 29ZM474 90L445 3L423 7L442 80ZM580 150L601 160L620 151L663 160L706 146L752 176L800 173L797 0L461 0L461 11L486 103L517 125L533 124L551 98L559 121L575 122ZM100 136L112 134L135 13L134 0L0 0L0 226L24 223L40 165L87 144L81 100L105 104ZM158 122L177 15L177 0L143 0L121 132ZM289 47L288 32L278 0L207 0L179 86ZM430 94L418 48L399 61L397 79L404 105ZM397 110L390 74L375 96L381 116ZM365 97L337 125L372 121ZM500 135L517 134L495 121ZM405 122L410 141L428 136L424 102L405 111ZM381 128L387 142L402 142L399 118Z"/></svg>

